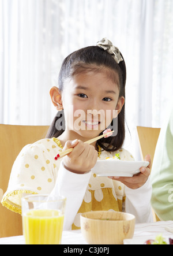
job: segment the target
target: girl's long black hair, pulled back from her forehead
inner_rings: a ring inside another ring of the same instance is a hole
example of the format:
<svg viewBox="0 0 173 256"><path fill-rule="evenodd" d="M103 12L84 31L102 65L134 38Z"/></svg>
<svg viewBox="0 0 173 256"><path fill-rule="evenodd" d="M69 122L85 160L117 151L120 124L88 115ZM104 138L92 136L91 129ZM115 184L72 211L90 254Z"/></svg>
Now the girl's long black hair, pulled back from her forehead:
<svg viewBox="0 0 173 256"><path fill-rule="evenodd" d="M122 54L121 54L122 55ZM123 58L123 56L122 56ZM119 84L119 97L125 98L126 85L126 64L125 61L116 63L110 53L104 51L99 46L88 46L80 50L74 51L65 58L59 72L58 88L63 91L63 84L67 78L73 77L80 72L86 72L97 69L106 69L110 79L117 80ZM117 81L116 81L117 84ZM97 141L99 146L106 151L115 151L122 147L125 139L125 105L118 114L118 132L116 136L103 138ZM50 129L47 133L47 138L58 138L65 131L65 118L63 110L55 116Z"/></svg>

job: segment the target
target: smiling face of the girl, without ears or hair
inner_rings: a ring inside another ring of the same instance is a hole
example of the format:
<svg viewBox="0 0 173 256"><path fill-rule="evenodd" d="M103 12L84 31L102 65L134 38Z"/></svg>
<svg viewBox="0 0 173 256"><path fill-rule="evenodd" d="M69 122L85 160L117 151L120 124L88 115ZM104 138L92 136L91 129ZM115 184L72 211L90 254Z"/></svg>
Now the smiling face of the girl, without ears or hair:
<svg viewBox="0 0 173 256"><path fill-rule="evenodd" d="M79 73L66 80L61 94L69 137L94 138L111 124L125 102L107 72ZM75 136L74 136L75 135Z"/></svg>

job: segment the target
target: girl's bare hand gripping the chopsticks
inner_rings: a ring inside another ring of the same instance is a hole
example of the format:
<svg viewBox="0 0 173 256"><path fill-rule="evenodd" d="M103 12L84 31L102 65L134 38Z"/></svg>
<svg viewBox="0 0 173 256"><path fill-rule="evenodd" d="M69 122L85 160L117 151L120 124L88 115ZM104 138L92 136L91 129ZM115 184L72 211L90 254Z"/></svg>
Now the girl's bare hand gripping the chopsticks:
<svg viewBox="0 0 173 256"><path fill-rule="evenodd" d="M63 157L63 164L67 170L74 173L89 172L97 162L95 147L81 140L67 140L63 150L73 147L73 151Z"/></svg>

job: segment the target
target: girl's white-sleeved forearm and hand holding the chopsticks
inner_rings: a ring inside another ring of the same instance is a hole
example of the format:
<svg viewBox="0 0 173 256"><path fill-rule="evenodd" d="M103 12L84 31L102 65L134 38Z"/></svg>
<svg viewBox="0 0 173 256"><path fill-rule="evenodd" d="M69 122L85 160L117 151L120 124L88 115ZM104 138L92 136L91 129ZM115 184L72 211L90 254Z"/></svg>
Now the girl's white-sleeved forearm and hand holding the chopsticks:
<svg viewBox="0 0 173 256"><path fill-rule="evenodd" d="M91 177L91 169L97 161L95 147L80 140L68 140L63 150L71 147L74 149L72 153L63 157L54 190L51 192L52 195L63 195L67 198L64 230L72 228Z"/></svg>

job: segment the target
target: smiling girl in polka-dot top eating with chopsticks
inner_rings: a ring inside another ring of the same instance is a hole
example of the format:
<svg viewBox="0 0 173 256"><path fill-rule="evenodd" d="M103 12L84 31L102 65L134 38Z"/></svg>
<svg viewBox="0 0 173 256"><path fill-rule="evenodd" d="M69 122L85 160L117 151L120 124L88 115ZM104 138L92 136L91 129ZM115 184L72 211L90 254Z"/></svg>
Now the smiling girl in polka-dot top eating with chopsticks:
<svg viewBox="0 0 173 256"><path fill-rule="evenodd" d="M80 228L80 214L91 210L133 213L137 222L152 221L150 165L134 177L97 177L92 172L99 159L115 157L133 161L122 149L125 139L126 65L122 54L106 38L97 46L70 54L62 64L52 103L58 110L47 139L29 144L14 162L2 205L21 213L24 194L66 196L64 229ZM89 145L86 140L116 123L116 136ZM62 150L72 153L55 161ZM115 159L116 160L116 159ZM146 156L146 161L150 161Z"/></svg>

